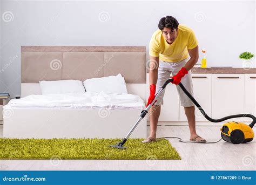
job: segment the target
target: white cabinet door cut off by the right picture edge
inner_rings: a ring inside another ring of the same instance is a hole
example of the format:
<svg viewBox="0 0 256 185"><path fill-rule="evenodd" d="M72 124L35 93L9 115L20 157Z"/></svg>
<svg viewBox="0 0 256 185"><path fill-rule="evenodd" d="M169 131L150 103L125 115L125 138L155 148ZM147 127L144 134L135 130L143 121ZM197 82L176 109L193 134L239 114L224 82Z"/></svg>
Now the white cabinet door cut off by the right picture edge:
<svg viewBox="0 0 256 185"><path fill-rule="evenodd" d="M246 114L256 115L256 74L245 74L245 111ZM245 121L252 121L245 118Z"/></svg>

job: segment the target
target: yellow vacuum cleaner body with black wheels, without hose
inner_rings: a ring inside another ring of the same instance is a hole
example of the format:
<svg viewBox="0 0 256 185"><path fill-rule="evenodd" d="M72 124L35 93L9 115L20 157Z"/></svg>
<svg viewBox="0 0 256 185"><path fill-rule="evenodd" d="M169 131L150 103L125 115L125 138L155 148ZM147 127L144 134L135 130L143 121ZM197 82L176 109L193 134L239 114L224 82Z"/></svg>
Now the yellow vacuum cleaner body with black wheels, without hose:
<svg viewBox="0 0 256 185"><path fill-rule="evenodd" d="M252 128L242 122L227 122L220 131L221 138L233 144L250 142L254 138Z"/></svg>

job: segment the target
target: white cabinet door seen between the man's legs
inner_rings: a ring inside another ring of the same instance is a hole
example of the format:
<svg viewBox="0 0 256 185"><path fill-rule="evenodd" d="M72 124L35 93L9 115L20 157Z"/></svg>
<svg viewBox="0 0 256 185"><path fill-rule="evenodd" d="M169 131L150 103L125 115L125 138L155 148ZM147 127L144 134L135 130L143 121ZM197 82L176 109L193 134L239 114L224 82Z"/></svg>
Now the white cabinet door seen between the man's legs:
<svg viewBox="0 0 256 185"><path fill-rule="evenodd" d="M149 73L147 73L147 98L149 98ZM164 105L158 121L179 121L179 96L176 85L170 83L165 87Z"/></svg>

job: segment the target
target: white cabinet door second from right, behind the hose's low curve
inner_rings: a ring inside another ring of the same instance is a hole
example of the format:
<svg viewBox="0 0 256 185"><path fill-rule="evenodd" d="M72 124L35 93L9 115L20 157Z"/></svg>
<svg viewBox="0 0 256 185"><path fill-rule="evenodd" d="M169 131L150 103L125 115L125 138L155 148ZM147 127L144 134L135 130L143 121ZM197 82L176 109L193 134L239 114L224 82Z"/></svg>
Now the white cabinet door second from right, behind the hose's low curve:
<svg viewBox="0 0 256 185"><path fill-rule="evenodd" d="M212 74L212 118L243 113L244 74ZM244 121L244 118L227 121Z"/></svg>

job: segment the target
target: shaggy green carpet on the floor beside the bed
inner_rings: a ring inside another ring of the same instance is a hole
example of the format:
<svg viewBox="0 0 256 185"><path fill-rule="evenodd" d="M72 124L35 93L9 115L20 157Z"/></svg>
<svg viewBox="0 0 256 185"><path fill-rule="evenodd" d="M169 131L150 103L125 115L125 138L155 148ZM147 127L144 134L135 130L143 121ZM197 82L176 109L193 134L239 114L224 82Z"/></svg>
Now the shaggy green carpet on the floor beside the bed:
<svg viewBox="0 0 256 185"><path fill-rule="evenodd" d="M122 139L0 139L0 159L181 159L166 139L142 143L128 139L127 149L109 147Z"/></svg>

